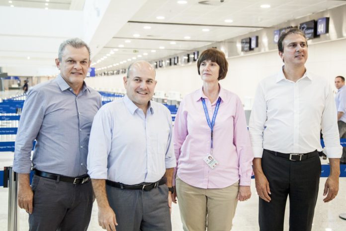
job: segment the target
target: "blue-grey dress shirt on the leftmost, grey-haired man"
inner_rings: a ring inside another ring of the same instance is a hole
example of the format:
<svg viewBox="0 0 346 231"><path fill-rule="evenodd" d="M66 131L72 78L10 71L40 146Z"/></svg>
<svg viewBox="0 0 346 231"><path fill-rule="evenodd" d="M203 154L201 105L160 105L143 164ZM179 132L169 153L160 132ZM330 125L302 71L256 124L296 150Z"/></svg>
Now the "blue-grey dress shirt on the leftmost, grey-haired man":
<svg viewBox="0 0 346 231"><path fill-rule="evenodd" d="M101 95L83 84L78 95L60 75L29 90L15 140L13 170L33 167L65 176L87 172L86 155L92 119L102 106Z"/></svg>

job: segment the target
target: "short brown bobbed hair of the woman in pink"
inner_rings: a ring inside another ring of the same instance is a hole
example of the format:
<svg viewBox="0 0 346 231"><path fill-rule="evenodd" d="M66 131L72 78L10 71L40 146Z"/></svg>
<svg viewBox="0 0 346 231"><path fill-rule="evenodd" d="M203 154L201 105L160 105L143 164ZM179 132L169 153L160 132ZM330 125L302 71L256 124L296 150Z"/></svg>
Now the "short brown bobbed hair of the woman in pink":
<svg viewBox="0 0 346 231"><path fill-rule="evenodd" d="M208 61L208 60L215 62L220 66L219 77L217 79L218 80L224 79L228 71L228 62L227 62L225 53L223 53L222 51L219 51L216 48L209 48L203 51L197 61L198 75L201 75L199 73L199 67L201 66L201 63L203 61Z"/></svg>

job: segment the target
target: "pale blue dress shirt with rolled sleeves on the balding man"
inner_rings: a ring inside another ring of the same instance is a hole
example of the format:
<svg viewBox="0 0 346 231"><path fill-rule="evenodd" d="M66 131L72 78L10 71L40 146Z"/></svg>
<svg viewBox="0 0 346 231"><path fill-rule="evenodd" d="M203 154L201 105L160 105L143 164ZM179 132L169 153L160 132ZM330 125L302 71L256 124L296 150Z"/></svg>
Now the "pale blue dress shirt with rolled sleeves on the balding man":
<svg viewBox="0 0 346 231"><path fill-rule="evenodd" d="M87 157L91 178L128 185L156 182L175 165L172 117L163 104L150 101L145 116L125 95L95 115Z"/></svg>

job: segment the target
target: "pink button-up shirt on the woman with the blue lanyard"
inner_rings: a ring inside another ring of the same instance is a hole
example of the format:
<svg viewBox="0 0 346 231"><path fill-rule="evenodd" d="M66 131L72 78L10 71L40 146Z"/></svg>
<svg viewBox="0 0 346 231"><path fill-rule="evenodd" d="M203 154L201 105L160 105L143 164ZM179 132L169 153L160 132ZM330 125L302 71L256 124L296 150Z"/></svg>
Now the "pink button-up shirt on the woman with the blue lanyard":
<svg viewBox="0 0 346 231"><path fill-rule="evenodd" d="M210 153L211 130L201 97L205 98L212 120L217 100L211 103L202 88L185 96L175 117L173 138L177 176L199 188L225 188L238 181L239 185L249 186L253 153L240 98L220 86L221 103L213 129L213 156L219 164L211 169L203 160Z"/></svg>

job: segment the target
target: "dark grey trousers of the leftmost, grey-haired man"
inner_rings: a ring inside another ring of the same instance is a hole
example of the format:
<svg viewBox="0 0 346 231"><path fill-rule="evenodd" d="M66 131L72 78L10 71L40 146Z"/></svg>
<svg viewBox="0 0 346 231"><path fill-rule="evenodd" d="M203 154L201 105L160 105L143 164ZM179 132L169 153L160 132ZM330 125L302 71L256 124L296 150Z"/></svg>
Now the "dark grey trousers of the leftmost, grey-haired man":
<svg viewBox="0 0 346 231"><path fill-rule="evenodd" d="M94 201L91 181L72 184L34 175L29 231L86 231Z"/></svg>

